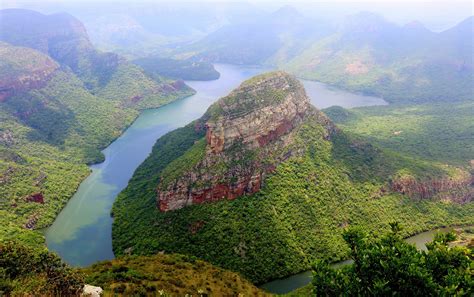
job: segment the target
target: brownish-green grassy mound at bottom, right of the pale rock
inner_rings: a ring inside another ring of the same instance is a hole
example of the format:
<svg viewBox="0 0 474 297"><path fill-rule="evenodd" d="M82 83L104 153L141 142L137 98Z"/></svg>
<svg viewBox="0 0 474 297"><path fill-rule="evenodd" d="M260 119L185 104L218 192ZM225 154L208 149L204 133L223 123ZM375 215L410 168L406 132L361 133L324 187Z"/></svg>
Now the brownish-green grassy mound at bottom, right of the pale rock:
<svg viewBox="0 0 474 297"><path fill-rule="evenodd" d="M82 270L105 296L268 296L237 273L178 254L125 256Z"/></svg>

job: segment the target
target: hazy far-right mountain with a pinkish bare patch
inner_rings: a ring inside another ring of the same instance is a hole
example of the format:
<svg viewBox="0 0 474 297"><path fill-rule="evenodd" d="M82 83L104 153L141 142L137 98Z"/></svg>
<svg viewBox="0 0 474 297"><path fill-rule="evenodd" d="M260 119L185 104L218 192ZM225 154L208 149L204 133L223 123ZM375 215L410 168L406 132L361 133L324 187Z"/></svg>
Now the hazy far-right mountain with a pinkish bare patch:
<svg viewBox="0 0 474 297"><path fill-rule="evenodd" d="M337 33L315 41L285 69L390 102L472 100L472 26L446 32L397 26L372 13L348 17ZM455 41L456 39L457 41Z"/></svg>

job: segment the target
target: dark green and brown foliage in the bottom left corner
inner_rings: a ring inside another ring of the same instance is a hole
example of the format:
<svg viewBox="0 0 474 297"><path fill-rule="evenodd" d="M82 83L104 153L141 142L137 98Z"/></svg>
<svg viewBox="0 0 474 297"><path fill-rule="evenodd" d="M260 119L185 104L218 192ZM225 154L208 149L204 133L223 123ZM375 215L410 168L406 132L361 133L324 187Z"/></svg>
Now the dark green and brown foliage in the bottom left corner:
<svg viewBox="0 0 474 297"><path fill-rule="evenodd" d="M72 296L81 292L83 275L45 248L0 243L0 294Z"/></svg>

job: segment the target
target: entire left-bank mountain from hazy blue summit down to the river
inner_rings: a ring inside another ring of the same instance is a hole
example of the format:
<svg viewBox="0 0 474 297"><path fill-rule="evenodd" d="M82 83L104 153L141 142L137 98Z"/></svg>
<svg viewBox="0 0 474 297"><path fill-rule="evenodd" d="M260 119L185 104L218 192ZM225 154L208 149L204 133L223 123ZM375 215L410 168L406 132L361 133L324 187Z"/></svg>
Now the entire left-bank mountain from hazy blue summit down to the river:
<svg viewBox="0 0 474 297"><path fill-rule="evenodd" d="M29 230L51 224L86 164L103 160L139 110L192 90L98 52L69 15L3 10L0 23L1 237L42 243Z"/></svg>

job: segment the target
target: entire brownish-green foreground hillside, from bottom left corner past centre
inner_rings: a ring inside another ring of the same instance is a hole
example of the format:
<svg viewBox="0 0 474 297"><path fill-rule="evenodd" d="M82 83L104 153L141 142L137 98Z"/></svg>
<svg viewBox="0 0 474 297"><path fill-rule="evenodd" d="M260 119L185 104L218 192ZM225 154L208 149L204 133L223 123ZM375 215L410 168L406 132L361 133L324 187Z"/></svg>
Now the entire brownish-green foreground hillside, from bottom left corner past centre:
<svg viewBox="0 0 474 297"><path fill-rule="evenodd" d="M0 242L0 294L78 296L85 284L105 296L212 294L270 296L236 273L183 255L126 256L77 269L44 247Z"/></svg>

